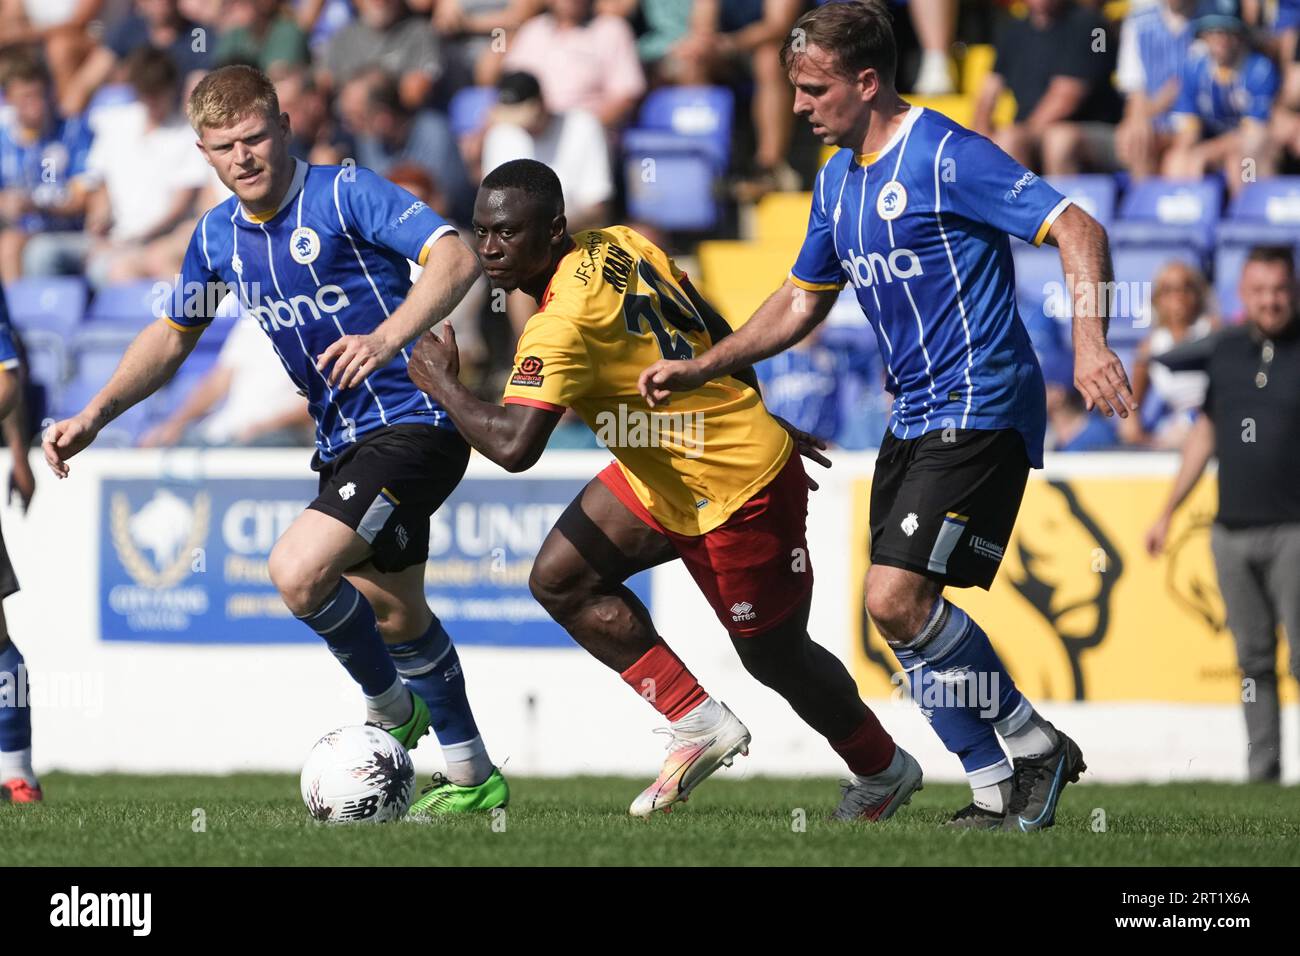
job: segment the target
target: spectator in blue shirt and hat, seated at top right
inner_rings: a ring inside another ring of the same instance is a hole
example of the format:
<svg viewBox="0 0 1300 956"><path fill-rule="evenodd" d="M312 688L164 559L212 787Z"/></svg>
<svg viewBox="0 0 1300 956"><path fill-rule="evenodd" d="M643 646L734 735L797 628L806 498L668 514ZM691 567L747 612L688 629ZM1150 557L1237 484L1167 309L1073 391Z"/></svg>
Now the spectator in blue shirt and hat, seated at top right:
<svg viewBox="0 0 1300 956"><path fill-rule="evenodd" d="M1183 68L1164 173L1199 179L1222 170L1228 191L1236 194L1247 182L1274 173L1277 151L1268 124L1278 69L1251 49L1235 0L1214 0L1210 7L1213 13L1196 18L1204 51L1193 49Z"/></svg>

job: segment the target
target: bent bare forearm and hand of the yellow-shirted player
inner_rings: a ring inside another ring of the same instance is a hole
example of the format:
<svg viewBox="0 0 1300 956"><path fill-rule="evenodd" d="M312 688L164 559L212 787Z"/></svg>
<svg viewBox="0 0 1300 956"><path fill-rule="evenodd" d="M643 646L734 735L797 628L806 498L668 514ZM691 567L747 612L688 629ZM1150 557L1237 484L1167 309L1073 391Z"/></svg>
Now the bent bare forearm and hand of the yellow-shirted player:
<svg viewBox="0 0 1300 956"><path fill-rule="evenodd" d="M417 389L447 410L465 441L510 472L537 464L560 420L560 412L550 408L484 402L462 385L456 333L450 324L442 336L429 330L420 337L407 373Z"/></svg>

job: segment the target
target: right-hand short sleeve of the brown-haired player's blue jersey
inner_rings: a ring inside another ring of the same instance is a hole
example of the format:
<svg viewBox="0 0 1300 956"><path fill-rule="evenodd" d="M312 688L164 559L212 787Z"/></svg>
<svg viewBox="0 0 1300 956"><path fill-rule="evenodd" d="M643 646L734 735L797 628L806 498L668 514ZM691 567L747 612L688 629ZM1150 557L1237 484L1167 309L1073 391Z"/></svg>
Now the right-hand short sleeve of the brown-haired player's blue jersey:
<svg viewBox="0 0 1300 956"><path fill-rule="evenodd" d="M1048 229L1070 204L984 137L963 137L944 151L944 157L953 159L946 166L952 176L941 177L944 208L1035 246L1043 245Z"/></svg>

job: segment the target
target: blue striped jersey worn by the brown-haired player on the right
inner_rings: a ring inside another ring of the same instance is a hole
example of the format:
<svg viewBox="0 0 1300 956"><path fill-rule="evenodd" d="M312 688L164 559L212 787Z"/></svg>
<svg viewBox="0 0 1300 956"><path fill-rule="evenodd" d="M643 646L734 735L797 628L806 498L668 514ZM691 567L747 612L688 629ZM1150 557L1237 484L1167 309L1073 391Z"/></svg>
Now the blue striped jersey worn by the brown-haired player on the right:
<svg viewBox="0 0 1300 956"><path fill-rule="evenodd" d="M889 431L1014 428L1035 467L1043 373L1015 306L1009 235L1041 243L1070 200L980 137L913 107L883 150L818 173L790 280L852 282L894 397Z"/></svg>

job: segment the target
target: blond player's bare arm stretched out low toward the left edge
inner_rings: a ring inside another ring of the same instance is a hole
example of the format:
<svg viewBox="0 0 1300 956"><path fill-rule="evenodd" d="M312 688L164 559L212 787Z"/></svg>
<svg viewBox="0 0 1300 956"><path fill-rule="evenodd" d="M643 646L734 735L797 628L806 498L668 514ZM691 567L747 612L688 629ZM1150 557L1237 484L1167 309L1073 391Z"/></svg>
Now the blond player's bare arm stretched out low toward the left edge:
<svg viewBox="0 0 1300 956"><path fill-rule="evenodd" d="M95 441L104 425L170 381L203 328L181 330L166 319L146 326L126 347L108 385L81 412L46 429L42 449L49 470L68 477L68 459Z"/></svg>

